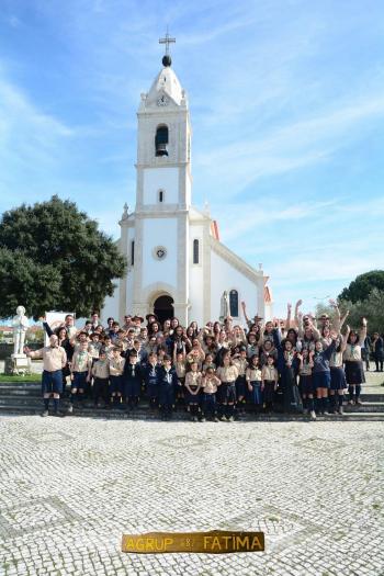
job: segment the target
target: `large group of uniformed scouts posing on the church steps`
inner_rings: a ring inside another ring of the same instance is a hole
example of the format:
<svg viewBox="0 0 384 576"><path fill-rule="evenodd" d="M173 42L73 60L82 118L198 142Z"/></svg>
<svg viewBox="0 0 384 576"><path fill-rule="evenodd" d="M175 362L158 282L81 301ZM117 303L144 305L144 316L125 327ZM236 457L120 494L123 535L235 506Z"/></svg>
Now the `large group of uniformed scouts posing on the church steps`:
<svg viewBox="0 0 384 576"><path fill-rule="evenodd" d="M347 387L349 402L361 404L364 382L362 353L366 320L360 331L347 326L336 303L331 320L318 320L287 307L284 326L256 316L247 329L230 317L182 327L177 318L162 324L155 314L113 318L103 327L97 313L76 330L68 315L57 330L66 351L64 394L70 380L69 411L93 398L98 408L135 410L142 398L150 410L169 419L185 409L193 421L233 421L248 413L342 414ZM48 335L53 330L44 324Z"/></svg>

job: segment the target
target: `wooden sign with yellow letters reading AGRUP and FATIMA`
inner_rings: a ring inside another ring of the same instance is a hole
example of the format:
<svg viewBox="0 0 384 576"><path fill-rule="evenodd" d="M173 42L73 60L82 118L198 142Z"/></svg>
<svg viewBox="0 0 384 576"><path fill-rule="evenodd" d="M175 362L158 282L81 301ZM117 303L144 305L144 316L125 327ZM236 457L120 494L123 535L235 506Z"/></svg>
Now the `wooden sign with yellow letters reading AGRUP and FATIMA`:
<svg viewBox="0 0 384 576"><path fill-rule="evenodd" d="M122 552L134 554L165 554L196 552L203 554L228 554L233 552L263 552L263 532L236 532L212 530L210 532L147 532L124 534Z"/></svg>

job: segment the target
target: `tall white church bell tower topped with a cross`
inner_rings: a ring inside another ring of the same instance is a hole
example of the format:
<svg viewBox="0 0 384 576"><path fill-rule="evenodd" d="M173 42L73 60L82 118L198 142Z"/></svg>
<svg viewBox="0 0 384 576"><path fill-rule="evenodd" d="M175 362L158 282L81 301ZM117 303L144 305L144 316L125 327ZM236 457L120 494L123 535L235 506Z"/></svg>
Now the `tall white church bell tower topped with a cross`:
<svg viewBox="0 0 384 576"><path fill-rule="evenodd" d="M154 310L160 319L177 316L185 324L191 124L185 92L171 68L172 42L168 33L160 39L166 44L162 68L142 94L137 112L136 207L134 228L125 235L131 255L125 300L126 309L142 316Z"/></svg>

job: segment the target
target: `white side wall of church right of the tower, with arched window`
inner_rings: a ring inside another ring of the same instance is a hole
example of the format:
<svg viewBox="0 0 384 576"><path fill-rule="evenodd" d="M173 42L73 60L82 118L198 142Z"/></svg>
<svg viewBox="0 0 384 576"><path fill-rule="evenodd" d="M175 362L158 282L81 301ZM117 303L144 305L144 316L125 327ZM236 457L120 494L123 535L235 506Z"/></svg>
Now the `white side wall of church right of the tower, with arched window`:
<svg viewBox="0 0 384 576"><path fill-rule="evenodd" d="M256 283L242 275L236 268L226 262L216 252L211 252L211 316L212 319L219 317L221 298L223 292L226 290L237 290L239 295L239 317L234 318L235 323L245 326L245 318L241 313L241 301L247 303L248 313L252 312L257 306L258 289ZM249 315L248 314L248 315Z"/></svg>

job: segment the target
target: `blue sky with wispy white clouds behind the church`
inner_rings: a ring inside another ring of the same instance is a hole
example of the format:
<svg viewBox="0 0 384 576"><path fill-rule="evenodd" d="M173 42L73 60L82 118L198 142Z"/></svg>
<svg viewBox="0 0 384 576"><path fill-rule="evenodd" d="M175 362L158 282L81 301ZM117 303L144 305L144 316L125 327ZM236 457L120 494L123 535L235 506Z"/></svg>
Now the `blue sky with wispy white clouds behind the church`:
<svg viewBox="0 0 384 576"><path fill-rule="evenodd" d="M381 0L1 0L0 212L58 194L117 237L167 25L193 202L263 263L275 312L383 268Z"/></svg>

